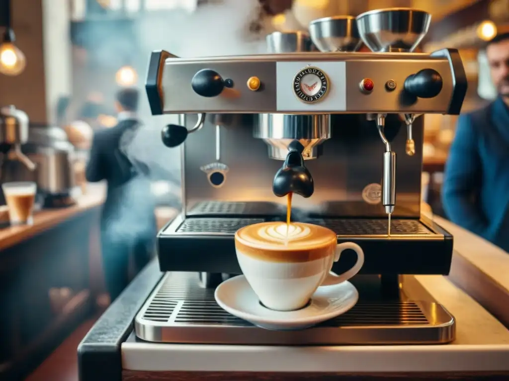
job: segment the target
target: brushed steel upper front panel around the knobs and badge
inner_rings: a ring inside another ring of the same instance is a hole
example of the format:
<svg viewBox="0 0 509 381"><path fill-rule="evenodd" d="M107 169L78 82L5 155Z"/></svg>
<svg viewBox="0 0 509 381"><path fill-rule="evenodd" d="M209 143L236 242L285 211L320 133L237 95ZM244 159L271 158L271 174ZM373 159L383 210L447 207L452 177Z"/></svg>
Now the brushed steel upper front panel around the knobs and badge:
<svg viewBox="0 0 509 381"><path fill-rule="evenodd" d="M345 63L346 74L341 69ZM310 64L322 66L320 69L329 77L330 88L323 100L306 104L297 99L292 84L297 72ZM277 75L276 65L284 68L278 69ZM225 88L218 97L199 96L190 83L194 74L202 69L212 69L223 79L232 79L234 87ZM422 69L438 71L443 78L443 89L435 98L405 104L401 99L403 83L409 75ZM246 85L251 76L259 77L262 82L258 91L251 91ZM375 82L375 88L368 95L359 88L363 78ZM389 79L397 82L394 91L384 87ZM163 70L162 90L165 113L446 113L453 80L449 62L444 57L416 53L309 52L196 58L192 61L168 58Z"/></svg>

